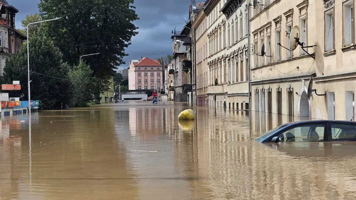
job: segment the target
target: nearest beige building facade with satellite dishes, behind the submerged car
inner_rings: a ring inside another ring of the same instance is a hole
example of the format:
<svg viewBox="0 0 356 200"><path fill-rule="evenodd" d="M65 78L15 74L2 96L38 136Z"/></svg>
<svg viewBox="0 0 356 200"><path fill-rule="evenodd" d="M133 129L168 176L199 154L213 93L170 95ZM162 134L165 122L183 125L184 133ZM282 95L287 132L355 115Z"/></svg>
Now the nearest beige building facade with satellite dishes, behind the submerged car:
<svg viewBox="0 0 356 200"><path fill-rule="evenodd" d="M253 121L266 124L267 120L272 124L268 130L295 120L354 120L355 1L260 4L265 5L251 8L250 19L251 110L259 111ZM289 51L295 26L300 29L300 43L309 47L298 45ZM259 56L263 44L266 55ZM308 98L310 78L316 93Z"/></svg>

